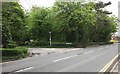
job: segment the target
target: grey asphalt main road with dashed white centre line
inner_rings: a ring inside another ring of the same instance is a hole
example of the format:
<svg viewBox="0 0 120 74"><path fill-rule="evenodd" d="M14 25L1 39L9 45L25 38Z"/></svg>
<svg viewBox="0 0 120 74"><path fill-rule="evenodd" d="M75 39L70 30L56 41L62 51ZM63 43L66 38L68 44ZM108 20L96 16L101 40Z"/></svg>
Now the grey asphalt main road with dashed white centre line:
<svg viewBox="0 0 120 74"><path fill-rule="evenodd" d="M118 53L118 45L36 56L2 64L3 72L99 72Z"/></svg>

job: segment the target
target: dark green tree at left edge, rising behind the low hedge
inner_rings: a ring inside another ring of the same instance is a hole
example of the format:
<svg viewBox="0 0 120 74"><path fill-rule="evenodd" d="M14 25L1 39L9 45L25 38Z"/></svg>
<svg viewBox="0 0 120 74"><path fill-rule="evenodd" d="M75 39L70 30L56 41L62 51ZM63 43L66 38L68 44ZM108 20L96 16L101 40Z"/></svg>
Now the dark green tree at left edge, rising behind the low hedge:
<svg viewBox="0 0 120 74"><path fill-rule="evenodd" d="M19 44L25 30L24 11L17 2L2 2L2 44L8 47L11 41Z"/></svg>

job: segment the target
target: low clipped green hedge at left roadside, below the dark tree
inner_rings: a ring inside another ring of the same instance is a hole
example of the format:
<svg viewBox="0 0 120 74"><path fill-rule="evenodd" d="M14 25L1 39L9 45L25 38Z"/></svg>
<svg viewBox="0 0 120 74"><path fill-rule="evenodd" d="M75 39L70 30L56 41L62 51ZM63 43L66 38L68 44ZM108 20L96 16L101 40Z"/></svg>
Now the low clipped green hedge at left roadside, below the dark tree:
<svg viewBox="0 0 120 74"><path fill-rule="evenodd" d="M2 48L2 61L16 60L24 58L28 55L28 50L25 47L16 47L16 48Z"/></svg>

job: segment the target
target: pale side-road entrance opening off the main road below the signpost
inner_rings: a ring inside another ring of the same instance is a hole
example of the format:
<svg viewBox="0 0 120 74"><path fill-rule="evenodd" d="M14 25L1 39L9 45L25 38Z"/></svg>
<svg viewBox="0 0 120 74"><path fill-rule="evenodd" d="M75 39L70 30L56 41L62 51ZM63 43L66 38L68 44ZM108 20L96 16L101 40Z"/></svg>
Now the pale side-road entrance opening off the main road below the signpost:
<svg viewBox="0 0 120 74"><path fill-rule="evenodd" d="M28 52L30 53L30 56L44 56L56 53L67 53L80 49L83 48L29 48Z"/></svg>

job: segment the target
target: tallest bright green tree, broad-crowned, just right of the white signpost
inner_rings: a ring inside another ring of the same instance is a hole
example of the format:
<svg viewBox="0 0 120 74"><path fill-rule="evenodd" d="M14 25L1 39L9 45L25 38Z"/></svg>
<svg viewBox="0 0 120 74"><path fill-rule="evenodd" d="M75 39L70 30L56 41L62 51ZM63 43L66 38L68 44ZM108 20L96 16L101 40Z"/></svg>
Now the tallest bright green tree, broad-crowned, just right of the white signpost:
<svg viewBox="0 0 120 74"><path fill-rule="evenodd" d="M95 23L94 3L56 2L54 8L65 40L86 47L90 40L91 26Z"/></svg>

